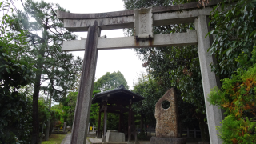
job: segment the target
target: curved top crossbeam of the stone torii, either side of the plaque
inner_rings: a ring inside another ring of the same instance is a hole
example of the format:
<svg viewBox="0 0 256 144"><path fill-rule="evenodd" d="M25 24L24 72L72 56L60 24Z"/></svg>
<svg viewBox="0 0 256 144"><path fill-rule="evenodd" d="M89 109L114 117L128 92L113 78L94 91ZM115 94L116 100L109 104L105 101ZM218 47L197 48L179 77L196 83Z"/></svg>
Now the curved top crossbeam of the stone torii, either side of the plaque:
<svg viewBox="0 0 256 144"><path fill-rule="evenodd" d="M217 3L218 1L212 0L206 4L206 7L215 6ZM202 9L203 13L210 13L211 9L203 8L204 6L198 2L153 7L153 24L154 26L165 26L170 24L194 23L194 18L198 17L198 11L196 10ZM191 13L191 11L194 11L194 13ZM72 32L87 31L89 26L94 25L95 21L98 21L98 26L101 30L134 28L134 10L98 14L74 14L58 11L57 17L64 22L64 27Z"/></svg>

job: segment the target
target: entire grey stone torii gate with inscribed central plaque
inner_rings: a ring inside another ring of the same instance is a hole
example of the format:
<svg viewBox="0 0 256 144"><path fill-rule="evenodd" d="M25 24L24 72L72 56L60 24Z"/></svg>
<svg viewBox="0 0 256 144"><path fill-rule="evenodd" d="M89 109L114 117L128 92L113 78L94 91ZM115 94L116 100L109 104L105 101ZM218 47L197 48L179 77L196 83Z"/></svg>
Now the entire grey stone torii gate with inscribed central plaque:
<svg viewBox="0 0 256 144"><path fill-rule="evenodd" d="M66 51L85 50L70 143L86 144L86 130L89 123L98 50L198 45L202 85L206 101L210 89L219 84L218 78L211 72L209 66L211 62L214 62L214 58L207 52L212 39L205 37L210 30L208 27L208 16L212 10L210 6L216 4L216 0L212 0L206 7L200 6L198 2L191 2L175 6L99 14L72 14L58 11L57 16L64 22L64 27L67 30L72 32L88 31L87 38L63 42L62 47L62 50ZM193 22L196 30L187 30L186 33L155 35L152 33L152 26ZM100 37L101 30L123 28L134 28L135 36L123 38ZM210 143L222 143L217 135L218 130L216 130L216 126L219 126L222 122L221 110L216 106L211 106L206 101L206 114Z"/></svg>

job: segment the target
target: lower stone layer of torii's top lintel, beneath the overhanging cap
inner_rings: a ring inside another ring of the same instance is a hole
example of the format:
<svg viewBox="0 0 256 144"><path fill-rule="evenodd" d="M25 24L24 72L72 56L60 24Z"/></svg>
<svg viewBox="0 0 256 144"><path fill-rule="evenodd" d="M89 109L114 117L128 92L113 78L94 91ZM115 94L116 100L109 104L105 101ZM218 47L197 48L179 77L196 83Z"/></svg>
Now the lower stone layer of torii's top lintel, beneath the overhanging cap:
<svg viewBox="0 0 256 144"><path fill-rule="evenodd" d="M209 15L211 7L204 9L194 9L189 11L174 11L171 13L153 14L153 26L165 26L170 24L193 23L198 15ZM114 30L123 28L134 28L134 16L123 16L114 18L97 19L64 19L64 27L73 32L87 31L89 26L98 22L101 30Z"/></svg>

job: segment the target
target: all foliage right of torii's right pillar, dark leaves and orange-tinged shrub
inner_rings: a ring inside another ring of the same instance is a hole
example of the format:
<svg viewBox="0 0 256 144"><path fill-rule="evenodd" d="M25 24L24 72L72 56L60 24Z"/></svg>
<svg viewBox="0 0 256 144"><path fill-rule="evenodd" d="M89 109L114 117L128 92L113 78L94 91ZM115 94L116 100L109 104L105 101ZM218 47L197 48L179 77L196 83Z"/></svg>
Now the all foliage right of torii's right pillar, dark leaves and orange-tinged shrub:
<svg viewBox="0 0 256 144"><path fill-rule="evenodd" d="M256 1L224 2L210 15L215 30L209 34L215 39L209 50L218 60L212 70L222 78L222 88L215 87L209 101L225 110L218 127L224 143L255 143Z"/></svg>

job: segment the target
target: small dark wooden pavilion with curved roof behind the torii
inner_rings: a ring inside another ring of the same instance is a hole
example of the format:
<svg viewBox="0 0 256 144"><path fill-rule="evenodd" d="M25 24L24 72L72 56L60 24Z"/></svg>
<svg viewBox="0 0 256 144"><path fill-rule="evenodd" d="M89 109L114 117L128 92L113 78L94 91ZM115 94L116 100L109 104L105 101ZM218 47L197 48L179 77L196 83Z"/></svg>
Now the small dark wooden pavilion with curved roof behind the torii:
<svg viewBox="0 0 256 144"><path fill-rule="evenodd" d="M123 85L119 86L118 88L114 90L107 90L102 93L98 93L94 95L94 98L92 98L92 103L98 103L98 106L100 106L99 114L98 114L98 133L97 137L101 137L100 133L100 124L101 124L101 113L104 113L104 130L103 130L103 137L102 142L106 142L106 119L107 119L107 113L115 113L119 114L119 126L118 126L118 132L125 133L128 131L128 141L130 141L131 134L134 135L134 138L136 139L136 129L134 124L134 112L131 108L132 104L134 102L142 101L144 97L141 95L135 94L131 92L130 90L126 90ZM129 108L126 108L126 106L129 106ZM128 112L128 127L124 127L124 121L123 121L123 114Z"/></svg>

